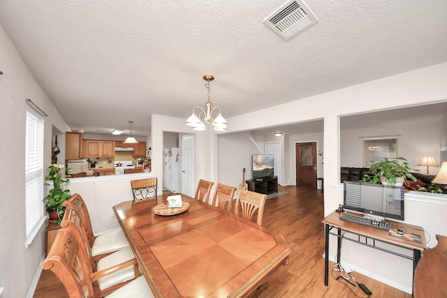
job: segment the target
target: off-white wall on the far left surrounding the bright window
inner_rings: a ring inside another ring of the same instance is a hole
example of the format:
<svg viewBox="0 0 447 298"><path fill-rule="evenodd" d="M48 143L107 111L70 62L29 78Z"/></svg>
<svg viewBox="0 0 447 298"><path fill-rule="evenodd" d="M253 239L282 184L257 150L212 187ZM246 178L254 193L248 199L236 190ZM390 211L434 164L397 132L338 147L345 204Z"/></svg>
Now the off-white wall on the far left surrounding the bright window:
<svg viewBox="0 0 447 298"><path fill-rule="evenodd" d="M0 156L9 165L0 179L0 288L4 287L2 297L27 297L44 255L46 226L25 249L25 99L31 99L48 114L44 128L45 167L51 164L53 126L61 132L70 128L29 72L3 27L0 48L0 126L4 128ZM64 138L59 138L58 143L63 151L58 159L63 161Z"/></svg>

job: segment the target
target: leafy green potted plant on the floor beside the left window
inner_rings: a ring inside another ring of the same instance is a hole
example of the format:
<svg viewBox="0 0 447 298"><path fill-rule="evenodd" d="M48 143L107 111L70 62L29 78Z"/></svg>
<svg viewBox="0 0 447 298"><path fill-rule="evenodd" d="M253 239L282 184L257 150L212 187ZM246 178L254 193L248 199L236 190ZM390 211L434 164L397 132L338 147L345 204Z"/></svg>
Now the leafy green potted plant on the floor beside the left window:
<svg viewBox="0 0 447 298"><path fill-rule="evenodd" d="M54 163L48 167L50 172L45 176L45 180L52 181L53 188L48 191L48 195L45 197L47 202L45 207L50 217L50 221L56 221L56 225L61 223L62 217L65 213L65 208L62 203L71 197L70 190L66 189L66 184L70 179L62 179L61 170L65 165ZM67 169L67 172L71 172L71 169ZM45 183L47 186L51 184Z"/></svg>

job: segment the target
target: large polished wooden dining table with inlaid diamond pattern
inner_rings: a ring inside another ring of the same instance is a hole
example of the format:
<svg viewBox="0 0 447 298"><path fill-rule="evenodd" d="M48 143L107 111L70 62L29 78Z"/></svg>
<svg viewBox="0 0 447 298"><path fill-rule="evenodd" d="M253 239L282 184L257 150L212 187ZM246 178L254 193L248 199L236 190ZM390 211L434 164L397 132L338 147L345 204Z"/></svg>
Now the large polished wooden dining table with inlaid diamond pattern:
<svg viewBox="0 0 447 298"><path fill-rule="evenodd" d="M154 213L166 194L113 207L155 297L244 297L288 262L281 235L181 196L189 208L178 214Z"/></svg>

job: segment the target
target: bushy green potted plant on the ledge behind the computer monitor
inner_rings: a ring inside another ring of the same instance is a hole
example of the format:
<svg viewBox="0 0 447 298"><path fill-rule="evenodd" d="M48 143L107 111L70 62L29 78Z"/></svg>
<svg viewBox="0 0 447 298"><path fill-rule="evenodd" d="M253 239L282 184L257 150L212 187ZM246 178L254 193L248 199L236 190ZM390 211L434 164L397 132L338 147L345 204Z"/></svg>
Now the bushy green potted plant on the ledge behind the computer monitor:
<svg viewBox="0 0 447 298"><path fill-rule="evenodd" d="M362 178L362 182L402 186L402 184L404 184L404 179L417 180L416 177L409 172L413 169L411 169L409 163L403 157L398 156L390 160L384 158L383 161L371 161L371 163L369 172L371 172L373 176L365 174L365 177Z"/></svg>

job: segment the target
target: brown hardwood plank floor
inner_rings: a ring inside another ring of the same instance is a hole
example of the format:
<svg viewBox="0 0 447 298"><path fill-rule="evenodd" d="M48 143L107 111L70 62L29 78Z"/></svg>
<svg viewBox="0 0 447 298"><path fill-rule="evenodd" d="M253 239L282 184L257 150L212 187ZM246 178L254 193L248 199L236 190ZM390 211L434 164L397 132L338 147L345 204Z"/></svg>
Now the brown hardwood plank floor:
<svg viewBox="0 0 447 298"><path fill-rule="evenodd" d="M279 186L285 195L267 200L263 226L282 234L291 248L288 265L278 267L249 297L367 297L360 288L346 287L329 277L324 285L323 194L313 188ZM333 263L330 263L332 266ZM373 297L411 295L372 278L353 272L359 283L365 283ZM68 297L64 287L50 271L43 271L34 297Z"/></svg>

